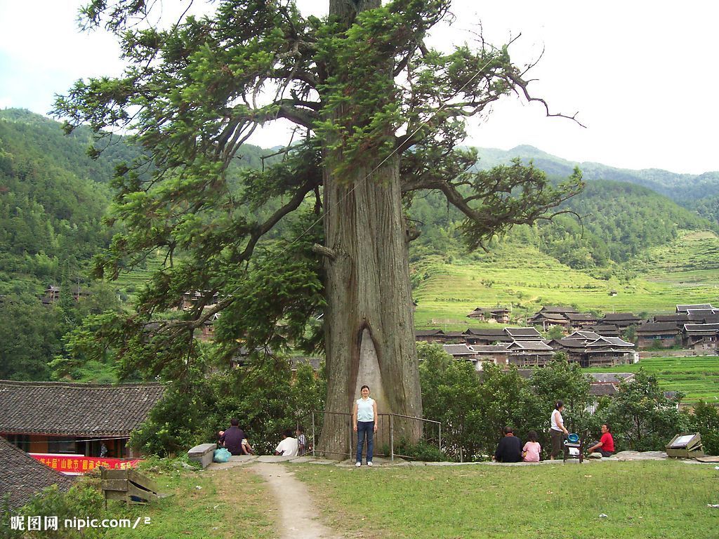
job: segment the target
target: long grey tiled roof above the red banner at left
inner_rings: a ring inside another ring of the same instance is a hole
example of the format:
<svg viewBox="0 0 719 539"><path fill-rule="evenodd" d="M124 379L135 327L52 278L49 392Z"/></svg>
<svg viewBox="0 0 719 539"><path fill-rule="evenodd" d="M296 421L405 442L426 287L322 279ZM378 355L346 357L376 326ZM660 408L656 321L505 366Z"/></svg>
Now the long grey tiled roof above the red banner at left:
<svg viewBox="0 0 719 539"><path fill-rule="evenodd" d="M0 432L129 436L162 397L162 384L0 380Z"/></svg>

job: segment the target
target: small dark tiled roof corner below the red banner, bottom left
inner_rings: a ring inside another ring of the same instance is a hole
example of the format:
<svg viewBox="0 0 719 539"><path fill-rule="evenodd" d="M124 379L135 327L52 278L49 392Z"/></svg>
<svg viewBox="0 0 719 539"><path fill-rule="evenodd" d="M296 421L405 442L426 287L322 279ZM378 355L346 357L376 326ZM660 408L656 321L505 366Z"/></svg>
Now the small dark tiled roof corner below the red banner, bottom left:
<svg viewBox="0 0 719 539"><path fill-rule="evenodd" d="M9 494L11 509L22 507L34 494L53 484L67 491L73 480L36 461L0 436L0 499Z"/></svg>

